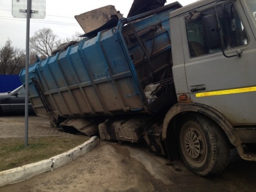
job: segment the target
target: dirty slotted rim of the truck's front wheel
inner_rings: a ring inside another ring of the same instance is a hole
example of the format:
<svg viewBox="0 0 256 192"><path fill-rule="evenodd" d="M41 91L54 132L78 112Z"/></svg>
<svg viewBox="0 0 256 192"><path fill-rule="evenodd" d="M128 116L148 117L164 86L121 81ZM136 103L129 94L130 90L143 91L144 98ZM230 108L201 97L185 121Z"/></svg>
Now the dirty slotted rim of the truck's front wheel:
<svg viewBox="0 0 256 192"><path fill-rule="evenodd" d="M181 141L186 152L184 155L197 163L202 162L207 153L205 140L203 134L197 127L188 126L185 129L183 140Z"/></svg>

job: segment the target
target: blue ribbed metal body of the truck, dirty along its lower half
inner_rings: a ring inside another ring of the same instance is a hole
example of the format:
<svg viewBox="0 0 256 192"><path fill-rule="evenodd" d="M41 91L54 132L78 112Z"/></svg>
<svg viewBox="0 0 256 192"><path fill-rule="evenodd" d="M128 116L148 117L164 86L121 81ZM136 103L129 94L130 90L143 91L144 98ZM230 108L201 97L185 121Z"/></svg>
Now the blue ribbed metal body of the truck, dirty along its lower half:
<svg viewBox="0 0 256 192"><path fill-rule="evenodd" d="M173 3L122 18L117 27L30 66L29 99L37 115L155 114L171 104L169 13L179 7ZM25 69L19 76L25 84ZM162 89L150 101L144 89L154 83Z"/></svg>

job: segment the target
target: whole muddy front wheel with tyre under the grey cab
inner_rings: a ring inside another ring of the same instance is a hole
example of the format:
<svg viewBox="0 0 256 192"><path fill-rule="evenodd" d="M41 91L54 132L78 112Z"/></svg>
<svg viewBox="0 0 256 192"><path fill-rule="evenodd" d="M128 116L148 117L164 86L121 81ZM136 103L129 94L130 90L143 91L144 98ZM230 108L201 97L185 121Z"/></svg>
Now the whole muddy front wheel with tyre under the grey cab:
<svg viewBox="0 0 256 192"><path fill-rule="evenodd" d="M179 149L186 166L200 176L222 172L229 161L229 144L211 119L200 114L183 118Z"/></svg>

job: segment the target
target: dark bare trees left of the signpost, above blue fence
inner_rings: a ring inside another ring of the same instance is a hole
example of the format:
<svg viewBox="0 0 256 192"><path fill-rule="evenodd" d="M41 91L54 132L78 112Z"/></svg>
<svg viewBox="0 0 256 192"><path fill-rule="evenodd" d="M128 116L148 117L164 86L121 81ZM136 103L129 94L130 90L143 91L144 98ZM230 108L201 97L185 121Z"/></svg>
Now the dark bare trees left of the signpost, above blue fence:
<svg viewBox="0 0 256 192"><path fill-rule="evenodd" d="M0 74L19 74L25 67L25 50L11 46L8 39L0 48Z"/></svg>

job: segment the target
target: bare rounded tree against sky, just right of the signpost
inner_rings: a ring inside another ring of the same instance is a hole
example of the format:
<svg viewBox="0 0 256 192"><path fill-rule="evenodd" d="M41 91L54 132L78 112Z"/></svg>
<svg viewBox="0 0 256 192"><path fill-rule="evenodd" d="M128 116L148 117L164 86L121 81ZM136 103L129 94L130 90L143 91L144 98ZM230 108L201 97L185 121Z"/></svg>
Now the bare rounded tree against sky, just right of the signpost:
<svg viewBox="0 0 256 192"><path fill-rule="evenodd" d="M30 38L30 48L39 56L48 57L60 44L60 38L50 28L43 28Z"/></svg>

